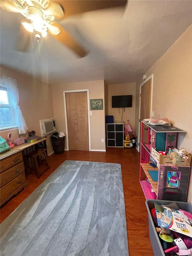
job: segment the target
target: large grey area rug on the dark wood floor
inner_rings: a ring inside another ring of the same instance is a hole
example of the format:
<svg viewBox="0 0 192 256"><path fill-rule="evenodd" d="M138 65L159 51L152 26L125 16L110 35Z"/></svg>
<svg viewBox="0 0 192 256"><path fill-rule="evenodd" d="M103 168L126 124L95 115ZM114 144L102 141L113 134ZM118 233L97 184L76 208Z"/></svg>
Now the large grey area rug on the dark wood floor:
<svg viewBox="0 0 192 256"><path fill-rule="evenodd" d="M0 228L1 256L127 256L121 165L64 161Z"/></svg>

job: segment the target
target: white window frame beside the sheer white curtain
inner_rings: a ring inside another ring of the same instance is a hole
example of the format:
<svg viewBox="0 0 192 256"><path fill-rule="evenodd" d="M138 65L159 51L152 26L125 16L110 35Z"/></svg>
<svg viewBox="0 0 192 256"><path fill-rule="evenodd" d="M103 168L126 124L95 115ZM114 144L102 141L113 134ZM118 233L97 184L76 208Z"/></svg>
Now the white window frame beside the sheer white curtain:
<svg viewBox="0 0 192 256"><path fill-rule="evenodd" d="M2 88L5 88L4 91L7 92L7 98L8 98L8 102L9 104L0 104L0 107L10 107L10 114L11 114L11 119L12 119L12 125L0 125L0 131L4 131L4 130L14 130L14 128L18 128L17 125L17 121L16 121L16 107L13 106L13 102L11 100L11 96L10 93L7 89L7 86L5 83L0 82L0 90L2 90Z"/></svg>

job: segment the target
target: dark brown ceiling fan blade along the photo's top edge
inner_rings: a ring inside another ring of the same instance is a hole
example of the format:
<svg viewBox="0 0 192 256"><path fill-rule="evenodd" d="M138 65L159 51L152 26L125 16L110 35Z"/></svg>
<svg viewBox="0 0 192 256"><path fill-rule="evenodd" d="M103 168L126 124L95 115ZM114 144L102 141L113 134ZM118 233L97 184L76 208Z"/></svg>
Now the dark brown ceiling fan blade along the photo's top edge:
<svg viewBox="0 0 192 256"><path fill-rule="evenodd" d="M52 2L52 1L51 1ZM105 8L120 7L127 4L127 0L58 0L64 8L64 17L74 14L95 11Z"/></svg>

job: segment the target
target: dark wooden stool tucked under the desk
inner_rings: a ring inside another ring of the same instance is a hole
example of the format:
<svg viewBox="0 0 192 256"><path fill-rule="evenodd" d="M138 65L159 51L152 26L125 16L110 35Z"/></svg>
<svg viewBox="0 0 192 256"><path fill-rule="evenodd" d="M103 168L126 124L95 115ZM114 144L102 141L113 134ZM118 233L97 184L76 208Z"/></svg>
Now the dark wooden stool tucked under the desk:
<svg viewBox="0 0 192 256"><path fill-rule="evenodd" d="M39 157L41 154L44 156L43 160L41 160ZM29 175L29 173L35 170L35 173L38 179L40 179L41 174L43 174L47 169L50 169L50 165L46 155L46 149L44 148L35 149L34 151L24 155L24 160L25 160L26 177ZM30 164L30 160L31 160L31 164ZM46 163L45 169L39 168L39 165L42 164L42 162ZM32 171L30 172L31 169Z"/></svg>

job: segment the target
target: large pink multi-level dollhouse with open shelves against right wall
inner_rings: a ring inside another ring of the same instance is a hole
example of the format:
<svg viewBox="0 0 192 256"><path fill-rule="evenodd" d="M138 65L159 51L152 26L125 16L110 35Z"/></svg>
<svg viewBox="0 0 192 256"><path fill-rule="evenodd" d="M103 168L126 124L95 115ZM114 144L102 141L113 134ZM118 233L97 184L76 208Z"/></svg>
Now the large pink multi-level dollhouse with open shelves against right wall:
<svg viewBox="0 0 192 256"><path fill-rule="evenodd" d="M172 166L171 155L158 152L176 148L180 132L185 131L141 122L140 184L146 199L186 202L190 155L187 155L188 160L181 158L176 169ZM155 168L150 165L153 162L157 164Z"/></svg>

